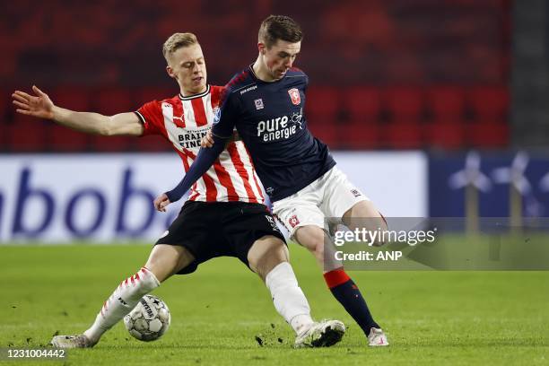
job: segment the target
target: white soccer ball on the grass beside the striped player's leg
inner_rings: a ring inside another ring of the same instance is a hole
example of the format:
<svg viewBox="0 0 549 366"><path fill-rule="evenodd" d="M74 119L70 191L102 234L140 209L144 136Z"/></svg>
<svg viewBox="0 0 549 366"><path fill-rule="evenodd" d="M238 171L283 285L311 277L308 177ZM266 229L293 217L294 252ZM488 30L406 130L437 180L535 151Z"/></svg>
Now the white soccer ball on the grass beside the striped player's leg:
<svg viewBox="0 0 549 366"><path fill-rule="evenodd" d="M164 301L153 295L143 299L124 317L130 335L144 342L155 341L170 327L170 309Z"/></svg>

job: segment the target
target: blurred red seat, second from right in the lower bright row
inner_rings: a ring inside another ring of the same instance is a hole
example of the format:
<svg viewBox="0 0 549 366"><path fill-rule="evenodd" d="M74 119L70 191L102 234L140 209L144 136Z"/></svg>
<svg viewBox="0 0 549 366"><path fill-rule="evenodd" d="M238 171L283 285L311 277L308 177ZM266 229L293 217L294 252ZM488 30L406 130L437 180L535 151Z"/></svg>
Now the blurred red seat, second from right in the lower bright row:
<svg viewBox="0 0 549 366"><path fill-rule="evenodd" d="M441 119L423 126L423 135L427 147L455 150L464 146L465 126L463 120Z"/></svg>

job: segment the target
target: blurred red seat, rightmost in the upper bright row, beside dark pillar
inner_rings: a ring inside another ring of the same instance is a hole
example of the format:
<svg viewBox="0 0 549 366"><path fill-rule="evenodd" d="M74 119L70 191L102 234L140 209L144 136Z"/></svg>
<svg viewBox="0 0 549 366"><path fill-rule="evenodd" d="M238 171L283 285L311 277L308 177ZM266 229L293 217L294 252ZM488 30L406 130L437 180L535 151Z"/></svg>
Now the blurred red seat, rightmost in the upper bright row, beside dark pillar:
<svg viewBox="0 0 549 366"><path fill-rule="evenodd" d="M477 87L468 92L467 99L477 121L508 120L510 98L507 87Z"/></svg>

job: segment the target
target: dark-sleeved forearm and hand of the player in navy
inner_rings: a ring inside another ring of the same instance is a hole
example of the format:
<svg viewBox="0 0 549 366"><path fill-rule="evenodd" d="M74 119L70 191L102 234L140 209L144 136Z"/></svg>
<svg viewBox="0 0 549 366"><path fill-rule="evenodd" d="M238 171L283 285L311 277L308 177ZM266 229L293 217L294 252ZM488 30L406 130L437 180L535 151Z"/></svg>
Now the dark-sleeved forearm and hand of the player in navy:
<svg viewBox="0 0 549 366"><path fill-rule="evenodd" d="M213 162L222 153L225 148L225 141L228 137L219 137L213 135L213 146L208 148L201 148L196 155L196 160L191 164L185 177L179 182L179 185L169 192L161 194L154 200L154 207L158 211L165 211L164 207L170 205L172 202L179 201L179 199L187 193L187 190L195 184L196 180L200 179L208 169L212 166Z"/></svg>

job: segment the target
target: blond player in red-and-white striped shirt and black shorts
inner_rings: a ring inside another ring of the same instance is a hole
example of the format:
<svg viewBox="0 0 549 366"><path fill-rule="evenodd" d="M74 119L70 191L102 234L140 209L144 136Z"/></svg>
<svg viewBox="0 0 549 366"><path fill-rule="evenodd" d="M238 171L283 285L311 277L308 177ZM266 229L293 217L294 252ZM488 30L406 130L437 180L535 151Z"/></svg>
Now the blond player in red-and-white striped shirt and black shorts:
<svg viewBox="0 0 549 366"><path fill-rule="evenodd" d="M19 113L52 119L82 132L162 135L188 170L219 109L222 87L206 83L205 59L194 34L173 34L164 43L163 54L167 72L179 84L180 93L171 99L145 103L135 113L107 117L62 109L36 86L35 95L14 92L13 103ZM344 334L342 322L317 323L310 317L307 299L288 263L283 235L263 203L246 148L242 142L230 142L196 181L188 201L156 242L145 266L118 285L92 327L83 335L54 336L51 343L62 348L92 347L144 294L172 274L190 274L201 263L220 256L238 257L265 281L275 309L296 332L296 347L339 342ZM154 205L165 211L157 202Z"/></svg>

